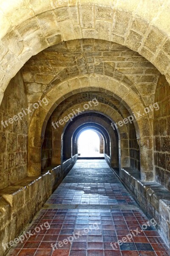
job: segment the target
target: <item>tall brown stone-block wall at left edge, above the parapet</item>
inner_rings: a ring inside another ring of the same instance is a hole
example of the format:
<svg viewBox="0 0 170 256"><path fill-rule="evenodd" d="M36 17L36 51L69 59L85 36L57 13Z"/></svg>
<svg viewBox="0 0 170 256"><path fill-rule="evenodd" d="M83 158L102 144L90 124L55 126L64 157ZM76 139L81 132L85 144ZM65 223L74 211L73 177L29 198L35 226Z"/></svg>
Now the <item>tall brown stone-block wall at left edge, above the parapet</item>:
<svg viewBox="0 0 170 256"><path fill-rule="evenodd" d="M11 79L0 106L0 189L27 176L28 115L7 125L5 121L28 108L21 73ZM27 111L26 111L27 113Z"/></svg>

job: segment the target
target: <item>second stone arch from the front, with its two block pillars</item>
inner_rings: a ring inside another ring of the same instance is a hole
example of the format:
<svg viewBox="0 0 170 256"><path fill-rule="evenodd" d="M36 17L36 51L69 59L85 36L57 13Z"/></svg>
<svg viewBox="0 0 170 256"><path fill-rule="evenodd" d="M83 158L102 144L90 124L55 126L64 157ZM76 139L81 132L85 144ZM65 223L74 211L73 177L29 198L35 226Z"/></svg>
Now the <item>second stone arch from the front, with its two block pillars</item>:
<svg viewBox="0 0 170 256"><path fill-rule="evenodd" d="M78 76L55 85L48 93L42 95L42 98L46 97L48 99L49 104L47 106L42 105L42 107L34 111L31 119L28 133L28 145L30 148L28 152L29 175L37 175L41 172L41 137L43 137L47 121L54 109L63 99L68 98L70 95L88 90L104 90L108 94L112 93L116 99L122 102L130 114L139 111L143 113L144 111L144 106L140 99L130 88L107 76ZM137 139L140 140L142 180L153 180L153 132L149 116L145 114L139 117L138 120L134 121L134 125Z"/></svg>

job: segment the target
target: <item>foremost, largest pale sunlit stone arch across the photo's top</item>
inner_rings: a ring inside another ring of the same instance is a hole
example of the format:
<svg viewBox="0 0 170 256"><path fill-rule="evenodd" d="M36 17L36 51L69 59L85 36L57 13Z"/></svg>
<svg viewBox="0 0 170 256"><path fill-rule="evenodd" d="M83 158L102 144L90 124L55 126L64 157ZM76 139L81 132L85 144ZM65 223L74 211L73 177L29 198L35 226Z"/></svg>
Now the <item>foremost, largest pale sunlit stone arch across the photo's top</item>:
<svg viewBox="0 0 170 256"><path fill-rule="evenodd" d="M162 5L159 0L154 9L151 1L138 0L117 1L113 6L109 0L104 4L102 0L88 4L86 0L57 4L51 0L38 4L16 0L11 4L7 0L1 5L0 102L8 82L32 55L59 42L80 38L125 45L153 63L170 81L168 6L169 1Z"/></svg>

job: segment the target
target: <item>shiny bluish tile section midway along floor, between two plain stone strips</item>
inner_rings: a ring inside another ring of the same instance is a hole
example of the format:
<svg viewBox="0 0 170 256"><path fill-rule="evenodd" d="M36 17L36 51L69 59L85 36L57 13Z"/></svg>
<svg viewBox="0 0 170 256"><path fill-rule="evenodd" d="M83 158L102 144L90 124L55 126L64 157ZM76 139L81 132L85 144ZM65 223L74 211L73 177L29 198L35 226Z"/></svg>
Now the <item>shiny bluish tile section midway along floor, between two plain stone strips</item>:
<svg viewBox="0 0 170 256"><path fill-rule="evenodd" d="M122 184L62 183L47 204L136 204Z"/></svg>

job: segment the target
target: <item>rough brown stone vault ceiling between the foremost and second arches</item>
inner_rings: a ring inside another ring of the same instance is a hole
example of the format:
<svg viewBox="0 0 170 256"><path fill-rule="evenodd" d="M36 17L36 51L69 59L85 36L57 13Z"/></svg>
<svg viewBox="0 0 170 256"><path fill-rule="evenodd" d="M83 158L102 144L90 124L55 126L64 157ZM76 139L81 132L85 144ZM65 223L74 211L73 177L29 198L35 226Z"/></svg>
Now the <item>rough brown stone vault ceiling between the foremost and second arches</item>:
<svg viewBox="0 0 170 256"><path fill-rule="evenodd" d="M100 74L122 81L153 102L159 71L144 57L116 43L95 39L72 40L49 47L33 56L22 68L28 101L42 95L53 83L84 75Z"/></svg>

